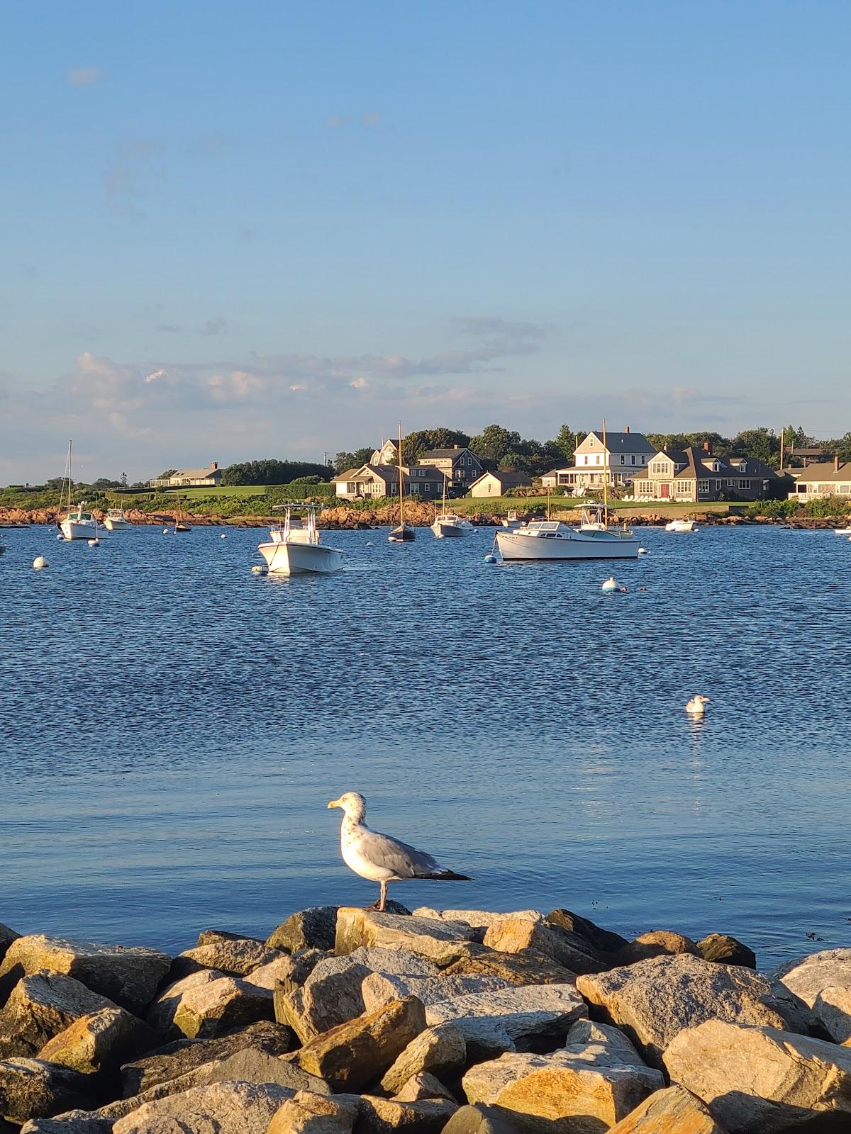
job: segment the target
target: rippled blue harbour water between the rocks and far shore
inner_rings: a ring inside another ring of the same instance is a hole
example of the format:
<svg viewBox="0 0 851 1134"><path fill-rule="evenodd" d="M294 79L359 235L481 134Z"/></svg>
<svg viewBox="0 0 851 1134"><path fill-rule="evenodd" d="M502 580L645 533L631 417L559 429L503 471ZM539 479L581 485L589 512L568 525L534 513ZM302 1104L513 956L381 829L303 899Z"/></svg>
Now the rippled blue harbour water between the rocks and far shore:
<svg viewBox="0 0 851 1134"><path fill-rule="evenodd" d="M260 534L0 531L0 921L178 949L366 904L326 810L357 789L475 877L408 906L851 946L848 541L642 531L612 596L488 531L328 533L346 570L293 579Z"/></svg>

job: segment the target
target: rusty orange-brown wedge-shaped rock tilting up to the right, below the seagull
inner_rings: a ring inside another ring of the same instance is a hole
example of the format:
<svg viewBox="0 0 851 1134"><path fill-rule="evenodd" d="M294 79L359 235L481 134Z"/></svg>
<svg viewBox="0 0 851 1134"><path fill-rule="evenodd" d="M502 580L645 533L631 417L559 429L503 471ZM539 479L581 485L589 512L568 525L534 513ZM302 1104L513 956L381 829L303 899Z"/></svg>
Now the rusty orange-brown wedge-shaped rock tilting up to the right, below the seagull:
<svg viewBox="0 0 851 1134"><path fill-rule="evenodd" d="M377 1082L426 1030L426 1012L406 997L323 1032L296 1052L298 1066L335 1090L357 1091Z"/></svg>

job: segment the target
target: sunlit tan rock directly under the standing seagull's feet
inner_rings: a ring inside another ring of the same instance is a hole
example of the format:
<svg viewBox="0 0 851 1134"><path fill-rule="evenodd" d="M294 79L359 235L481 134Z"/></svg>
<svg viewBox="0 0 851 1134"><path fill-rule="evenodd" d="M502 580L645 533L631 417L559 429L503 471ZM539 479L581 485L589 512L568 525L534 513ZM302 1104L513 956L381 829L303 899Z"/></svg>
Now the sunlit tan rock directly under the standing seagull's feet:
<svg viewBox="0 0 851 1134"><path fill-rule="evenodd" d="M463 922L439 922L431 917L380 914L372 909L342 906L337 913L335 953L340 956L361 946L402 949L448 965L464 951L474 931Z"/></svg>

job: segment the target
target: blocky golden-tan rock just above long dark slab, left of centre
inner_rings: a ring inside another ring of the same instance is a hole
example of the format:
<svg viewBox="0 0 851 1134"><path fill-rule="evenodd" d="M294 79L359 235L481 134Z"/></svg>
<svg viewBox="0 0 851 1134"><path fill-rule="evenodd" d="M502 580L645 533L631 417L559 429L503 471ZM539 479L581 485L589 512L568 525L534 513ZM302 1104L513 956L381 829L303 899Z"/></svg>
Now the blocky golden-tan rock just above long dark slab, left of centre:
<svg viewBox="0 0 851 1134"><path fill-rule="evenodd" d="M202 968L169 985L148 1014L163 1034L208 1040L260 1019L272 1019L272 993L235 976Z"/></svg>

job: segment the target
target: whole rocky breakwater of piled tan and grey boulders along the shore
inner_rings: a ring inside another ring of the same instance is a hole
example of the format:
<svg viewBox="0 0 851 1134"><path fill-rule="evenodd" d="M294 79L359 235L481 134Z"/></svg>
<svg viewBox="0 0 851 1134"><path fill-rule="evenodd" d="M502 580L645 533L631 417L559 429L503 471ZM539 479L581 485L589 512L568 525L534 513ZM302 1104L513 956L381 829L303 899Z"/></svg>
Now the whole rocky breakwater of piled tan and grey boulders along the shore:
<svg viewBox="0 0 851 1134"><path fill-rule="evenodd" d="M176 957L0 925L0 1132L851 1129L851 949L391 908Z"/></svg>

